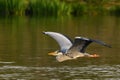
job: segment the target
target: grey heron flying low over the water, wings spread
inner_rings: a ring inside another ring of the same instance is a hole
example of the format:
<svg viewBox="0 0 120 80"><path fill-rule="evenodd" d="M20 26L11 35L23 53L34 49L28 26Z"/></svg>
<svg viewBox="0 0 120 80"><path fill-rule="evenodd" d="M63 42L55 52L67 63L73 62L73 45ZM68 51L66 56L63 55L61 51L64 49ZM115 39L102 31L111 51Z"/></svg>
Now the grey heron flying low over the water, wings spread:
<svg viewBox="0 0 120 80"><path fill-rule="evenodd" d="M85 53L87 46L92 42L96 42L103 46L110 47L106 43L99 40L93 40L84 37L75 37L74 42L72 42L68 37L57 32L43 32L43 33L49 35L58 42L60 50L49 53L49 55L56 56L56 59L59 62L85 56L99 57L99 55L97 54L90 55L88 53Z"/></svg>

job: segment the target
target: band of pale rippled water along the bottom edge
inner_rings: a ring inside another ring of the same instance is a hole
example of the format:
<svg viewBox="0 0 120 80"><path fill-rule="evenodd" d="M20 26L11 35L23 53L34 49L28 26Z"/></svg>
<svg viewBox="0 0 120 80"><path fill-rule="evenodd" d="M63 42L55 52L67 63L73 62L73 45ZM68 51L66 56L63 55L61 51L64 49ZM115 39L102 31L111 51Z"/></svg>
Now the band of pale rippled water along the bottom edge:
<svg viewBox="0 0 120 80"><path fill-rule="evenodd" d="M90 65L86 67L0 67L0 79L44 80L119 80L120 65Z"/></svg>

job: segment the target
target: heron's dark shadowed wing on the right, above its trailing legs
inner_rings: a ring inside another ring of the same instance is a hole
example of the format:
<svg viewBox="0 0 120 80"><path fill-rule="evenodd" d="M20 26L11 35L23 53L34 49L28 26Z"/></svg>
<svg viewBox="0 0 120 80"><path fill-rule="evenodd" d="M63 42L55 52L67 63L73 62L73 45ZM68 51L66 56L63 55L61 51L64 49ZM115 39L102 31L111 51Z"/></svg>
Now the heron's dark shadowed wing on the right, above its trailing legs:
<svg viewBox="0 0 120 80"><path fill-rule="evenodd" d="M88 39L84 37L75 37L74 43L72 47L68 50L68 53L76 52L76 51L84 53L87 46L92 42L96 42L106 47L111 47L110 45L99 40L93 40L93 39Z"/></svg>

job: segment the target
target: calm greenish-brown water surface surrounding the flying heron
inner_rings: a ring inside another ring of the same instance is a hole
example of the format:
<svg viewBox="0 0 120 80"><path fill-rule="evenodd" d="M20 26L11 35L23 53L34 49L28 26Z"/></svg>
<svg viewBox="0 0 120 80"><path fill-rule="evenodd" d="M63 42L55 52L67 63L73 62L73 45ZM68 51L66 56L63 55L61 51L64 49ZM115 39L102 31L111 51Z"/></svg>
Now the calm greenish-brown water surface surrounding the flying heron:
<svg viewBox="0 0 120 80"><path fill-rule="evenodd" d="M112 48L91 44L88 53L100 58L79 58L59 63L47 53L56 42L42 34L56 31L70 36L103 40ZM10 17L0 18L0 79L20 80L119 80L120 18Z"/></svg>

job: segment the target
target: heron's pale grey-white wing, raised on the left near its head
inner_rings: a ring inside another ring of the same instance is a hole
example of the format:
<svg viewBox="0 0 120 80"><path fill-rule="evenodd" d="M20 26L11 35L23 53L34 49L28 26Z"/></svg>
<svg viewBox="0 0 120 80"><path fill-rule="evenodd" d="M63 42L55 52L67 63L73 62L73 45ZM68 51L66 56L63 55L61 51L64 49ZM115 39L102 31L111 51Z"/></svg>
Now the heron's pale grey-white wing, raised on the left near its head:
<svg viewBox="0 0 120 80"><path fill-rule="evenodd" d="M68 50L72 46L72 41L63 34L57 32L43 32L43 33L55 39L58 42L61 51Z"/></svg>

